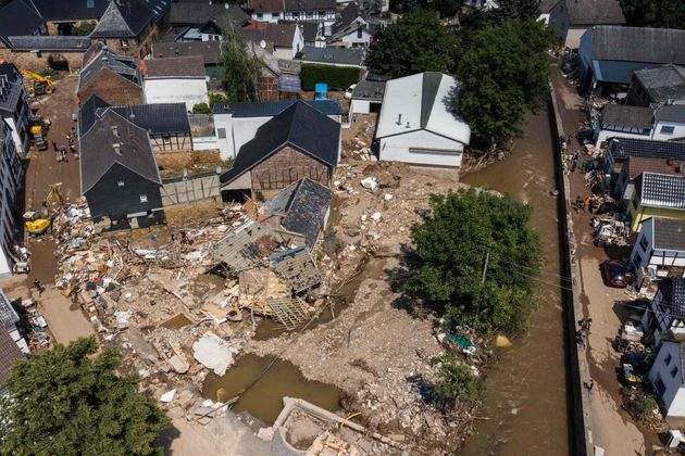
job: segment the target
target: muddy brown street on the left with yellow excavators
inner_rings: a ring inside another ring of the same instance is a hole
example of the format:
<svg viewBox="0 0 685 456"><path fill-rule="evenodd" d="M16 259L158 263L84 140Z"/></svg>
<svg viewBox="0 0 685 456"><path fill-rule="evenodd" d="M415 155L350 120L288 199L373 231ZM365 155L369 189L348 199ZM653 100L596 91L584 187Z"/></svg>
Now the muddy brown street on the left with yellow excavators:
<svg viewBox="0 0 685 456"><path fill-rule="evenodd" d="M78 160L73 154L67 155L66 162L58 162L52 149L52 141L68 144L66 135L76 123L72 121L72 113L76 113L76 85L78 78L68 76L55 81L55 90L51 96L42 96L32 100L30 106L35 115L49 119L51 128L47 140L50 147L45 151L32 150L26 169L25 210L39 211L52 183L59 185L59 191L65 203L79 198ZM57 204L52 201L52 207ZM17 220L17 224L22 224ZM57 258L54 257L54 241L50 235L37 238L25 236L26 248L29 250L32 271L8 281L0 282L10 299L30 297L38 301L42 315L48 320L48 327L58 343L68 343L79 337L94 333L90 322L80 309L71 308L71 301L60 290L54 288ZM39 296L34 288L34 279L40 280L46 292Z"/></svg>

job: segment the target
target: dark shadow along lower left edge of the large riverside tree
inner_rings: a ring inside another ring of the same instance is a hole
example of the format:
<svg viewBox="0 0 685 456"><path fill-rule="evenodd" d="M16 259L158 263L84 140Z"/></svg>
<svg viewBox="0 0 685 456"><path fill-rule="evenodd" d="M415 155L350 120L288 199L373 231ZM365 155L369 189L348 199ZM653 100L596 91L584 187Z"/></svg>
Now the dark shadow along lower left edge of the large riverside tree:
<svg viewBox="0 0 685 456"><path fill-rule="evenodd" d="M400 252L399 265L385 269L390 290L399 294L390 305L407 312L412 318L424 319L432 315L444 314L445 304L421 299L404 290L407 280L419 270L419 258L416 257L416 252L409 244L401 244Z"/></svg>

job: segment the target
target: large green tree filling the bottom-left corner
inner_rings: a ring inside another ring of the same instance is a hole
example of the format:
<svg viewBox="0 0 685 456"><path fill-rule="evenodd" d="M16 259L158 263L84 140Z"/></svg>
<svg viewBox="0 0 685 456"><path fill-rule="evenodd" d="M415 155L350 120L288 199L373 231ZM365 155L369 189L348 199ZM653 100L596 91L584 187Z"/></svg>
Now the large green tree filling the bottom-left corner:
<svg viewBox="0 0 685 456"><path fill-rule="evenodd" d="M0 404L0 454L162 454L157 440L169 418L137 392L137 376L116 373L119 352L96 351L91 337L14 365Z"/></svg>

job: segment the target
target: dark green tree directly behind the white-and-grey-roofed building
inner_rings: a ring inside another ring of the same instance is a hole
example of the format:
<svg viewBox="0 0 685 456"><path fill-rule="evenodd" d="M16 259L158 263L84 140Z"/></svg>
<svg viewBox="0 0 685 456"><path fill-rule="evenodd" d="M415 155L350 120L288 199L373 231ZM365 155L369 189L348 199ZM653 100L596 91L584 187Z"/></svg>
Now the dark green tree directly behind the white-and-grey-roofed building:
<svg viewBox="0 0 685 456"><path fill-rule="evenodd" d="M369 48L366 64L393 77L422 72L452 73L459 40L443 26L435 12L415 9L388 25Z"/></svg>

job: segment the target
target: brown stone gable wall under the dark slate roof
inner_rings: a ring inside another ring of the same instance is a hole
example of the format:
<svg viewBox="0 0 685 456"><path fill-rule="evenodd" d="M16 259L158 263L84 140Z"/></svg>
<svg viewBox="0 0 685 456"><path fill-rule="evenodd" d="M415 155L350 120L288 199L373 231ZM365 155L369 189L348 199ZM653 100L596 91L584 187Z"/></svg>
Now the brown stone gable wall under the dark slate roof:
<svg viewBox="0 0 685 456"><path fill-rule="evenodd" d="M252 169L252 189L281 190L303 177L328 187L331 169L311 156L285 147Z"/></svg>

